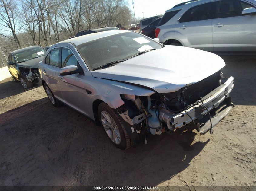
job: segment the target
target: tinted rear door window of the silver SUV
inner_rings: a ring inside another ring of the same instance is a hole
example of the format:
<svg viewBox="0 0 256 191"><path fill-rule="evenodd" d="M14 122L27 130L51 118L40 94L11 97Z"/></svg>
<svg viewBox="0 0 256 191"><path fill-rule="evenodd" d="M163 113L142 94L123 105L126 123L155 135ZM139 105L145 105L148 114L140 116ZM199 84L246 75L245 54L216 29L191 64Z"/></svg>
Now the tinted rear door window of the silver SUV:
<svg viewBox="0 0 256 191"><path fill-rule="evenodd" d="M212 19L212 6L213 3L204 3L202 5L194 6L182 15L179 22L184 23Z"/></svg>

